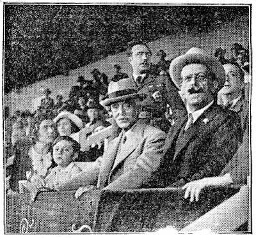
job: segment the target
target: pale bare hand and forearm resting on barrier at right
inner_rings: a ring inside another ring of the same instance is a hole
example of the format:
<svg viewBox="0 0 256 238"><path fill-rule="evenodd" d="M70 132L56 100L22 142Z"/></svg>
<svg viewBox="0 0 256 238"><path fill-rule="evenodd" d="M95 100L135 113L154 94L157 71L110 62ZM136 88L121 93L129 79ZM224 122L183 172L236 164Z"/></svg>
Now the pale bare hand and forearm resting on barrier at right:
<svg viewBox="0 0 256 238"><path fill-rule="evenodd" d="M186 199L190 195L190 202L193 202L194 200L197 202L202 189L209 186L226 186L232 184L232 182L230 174L218 177L205 177L204 179L188 182L182 187L183 190L186 190L184 198Z"/></svg>

